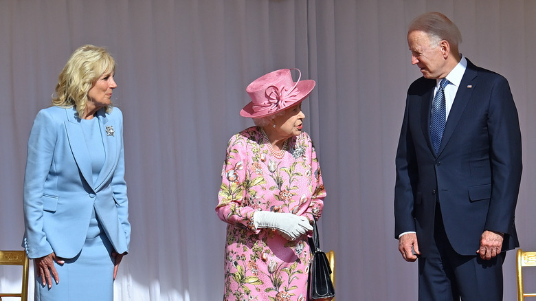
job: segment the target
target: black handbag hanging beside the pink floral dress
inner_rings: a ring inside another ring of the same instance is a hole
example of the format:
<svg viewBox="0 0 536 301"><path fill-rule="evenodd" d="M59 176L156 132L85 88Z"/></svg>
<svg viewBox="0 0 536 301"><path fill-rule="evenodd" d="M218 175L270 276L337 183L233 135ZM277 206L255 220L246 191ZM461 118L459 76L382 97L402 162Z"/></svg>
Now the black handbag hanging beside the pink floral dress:
<svg viewBox="0 0 536 301"><path fill-rule="evenodd" d="M309 238L312 261L309 266L309 300L331 301L335 288L331 282L331 267L326 253L320 249L316 221L313 219L313 238Z"/></svg>

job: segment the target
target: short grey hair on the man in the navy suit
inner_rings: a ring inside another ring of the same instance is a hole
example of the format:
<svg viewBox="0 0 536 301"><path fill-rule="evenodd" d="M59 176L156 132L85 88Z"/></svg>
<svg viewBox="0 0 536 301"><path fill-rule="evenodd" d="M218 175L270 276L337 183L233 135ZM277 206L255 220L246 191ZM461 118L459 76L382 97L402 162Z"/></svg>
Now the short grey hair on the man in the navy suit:
<svg viewBox="0 0 536 301"><path fill-rule="evenodd" d="M462 43L462 34L456 24L440 12L426 12L417 16L407 30L407 32L414 31L427 33L432 43L430 47L438 46L443 40L449 42L456 49Z"/></svg>

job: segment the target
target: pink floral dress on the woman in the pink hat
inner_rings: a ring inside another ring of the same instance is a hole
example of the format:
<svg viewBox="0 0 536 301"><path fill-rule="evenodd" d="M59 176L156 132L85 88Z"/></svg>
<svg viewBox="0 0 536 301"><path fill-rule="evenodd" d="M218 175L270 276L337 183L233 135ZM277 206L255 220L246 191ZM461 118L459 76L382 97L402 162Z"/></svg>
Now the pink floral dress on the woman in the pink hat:
<svg viewBox="0 0 536 301"><path fill-rule="evenodd" d="M306 133L290 138L282 159L271 155L258 126L231 138L216 207L228 223L223 300L306 300L307 237L287 241L275 230L255 230L253 214L269 210L318 219L324 197L315 147Z"/></svg>

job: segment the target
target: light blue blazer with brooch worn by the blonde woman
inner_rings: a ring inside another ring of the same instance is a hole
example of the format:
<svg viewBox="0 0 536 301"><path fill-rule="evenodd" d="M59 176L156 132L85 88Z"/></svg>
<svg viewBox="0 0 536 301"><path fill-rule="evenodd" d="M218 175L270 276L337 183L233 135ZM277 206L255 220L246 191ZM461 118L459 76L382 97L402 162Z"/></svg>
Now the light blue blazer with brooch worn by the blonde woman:
<svg viewBox="0 0 536 301"><path fill-rule="evenodd" d="M91 161L75 109L37 114L28 141L24 177L23 247L28 257L52 252L74 258L84 245L91 213L115 252L129 250L131 225L124 181L123 115L98 111L106 159L93 183Z"/></svg>

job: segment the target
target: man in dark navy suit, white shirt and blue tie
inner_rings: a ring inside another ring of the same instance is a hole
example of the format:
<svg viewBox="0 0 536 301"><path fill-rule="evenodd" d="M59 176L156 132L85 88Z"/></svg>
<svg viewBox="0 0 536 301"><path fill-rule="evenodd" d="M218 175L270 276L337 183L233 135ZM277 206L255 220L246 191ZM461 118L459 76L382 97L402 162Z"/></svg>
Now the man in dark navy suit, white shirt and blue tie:
<svg viewBox="0 0 536 301"><path fill-rule="evenodd" d="M502 263L519 246L522 159L508 81L458 52L461 34L429 12L410 24L412 64L396 166L395 237L418 258L418 296L502 300Z"/></svg>

